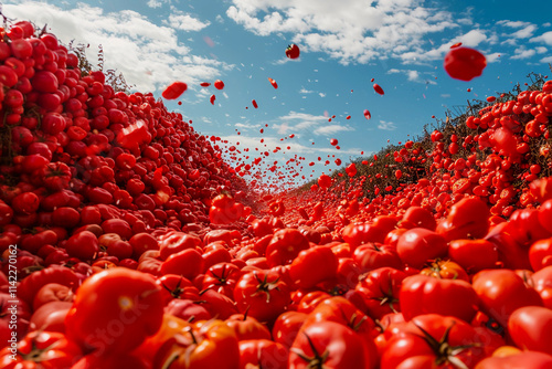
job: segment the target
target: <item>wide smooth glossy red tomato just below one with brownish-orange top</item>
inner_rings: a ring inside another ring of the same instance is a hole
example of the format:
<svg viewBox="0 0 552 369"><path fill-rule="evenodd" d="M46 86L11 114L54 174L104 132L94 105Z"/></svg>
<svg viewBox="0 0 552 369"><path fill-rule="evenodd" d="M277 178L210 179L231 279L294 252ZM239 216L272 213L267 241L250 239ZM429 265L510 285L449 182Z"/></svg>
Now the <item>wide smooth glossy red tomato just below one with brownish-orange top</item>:
<svg viewBox="0 0 552 369"><path fill-rule="evenodd" d="M424 314L440 314L469 323L478 310L476 292L461 280L412 275L403 280L399 299L406 320Z"/></svg>

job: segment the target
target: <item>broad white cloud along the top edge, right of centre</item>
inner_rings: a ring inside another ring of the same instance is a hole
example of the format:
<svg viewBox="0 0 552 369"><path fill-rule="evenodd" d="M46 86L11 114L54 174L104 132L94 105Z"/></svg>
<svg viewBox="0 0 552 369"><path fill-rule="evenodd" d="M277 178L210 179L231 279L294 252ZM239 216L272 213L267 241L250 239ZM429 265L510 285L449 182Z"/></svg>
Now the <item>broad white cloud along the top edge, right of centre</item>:
<svg viewBox="0 0 552 369"><path fill-rule="evenodd" d="M458 25L447 11L418 1L233 0L226 15L258 34L294 33L306 51L325 52L343 64L368 63L420 50L428 36Z"/></svg>

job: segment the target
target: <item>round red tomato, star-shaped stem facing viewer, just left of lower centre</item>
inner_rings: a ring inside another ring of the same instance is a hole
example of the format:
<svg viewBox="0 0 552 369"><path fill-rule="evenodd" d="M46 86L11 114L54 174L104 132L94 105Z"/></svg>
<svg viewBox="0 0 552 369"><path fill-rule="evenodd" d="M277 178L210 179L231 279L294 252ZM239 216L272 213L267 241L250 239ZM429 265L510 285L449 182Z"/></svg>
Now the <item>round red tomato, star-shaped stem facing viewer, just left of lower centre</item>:
<svg viewBox="0 0 552 369"><path fill-rule="evenodd" d="M234 301L241 313L259 321L274 321L290 302L289 287L269 271L245 273L234 288Z"/></svg>

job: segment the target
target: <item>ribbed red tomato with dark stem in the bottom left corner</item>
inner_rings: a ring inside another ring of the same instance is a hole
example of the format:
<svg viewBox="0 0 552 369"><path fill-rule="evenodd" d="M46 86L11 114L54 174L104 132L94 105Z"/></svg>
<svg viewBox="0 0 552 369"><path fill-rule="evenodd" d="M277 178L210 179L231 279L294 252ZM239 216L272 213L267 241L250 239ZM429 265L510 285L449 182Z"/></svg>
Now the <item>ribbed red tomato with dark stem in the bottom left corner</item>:
<svg viewBox="0 0 552 369"><path fill-rule="evenodd" d="M81 355L78 346L64 334L34 330L18 342L13 356L9 347L0 351L0 366L7 369L70 369Z"/></svg>

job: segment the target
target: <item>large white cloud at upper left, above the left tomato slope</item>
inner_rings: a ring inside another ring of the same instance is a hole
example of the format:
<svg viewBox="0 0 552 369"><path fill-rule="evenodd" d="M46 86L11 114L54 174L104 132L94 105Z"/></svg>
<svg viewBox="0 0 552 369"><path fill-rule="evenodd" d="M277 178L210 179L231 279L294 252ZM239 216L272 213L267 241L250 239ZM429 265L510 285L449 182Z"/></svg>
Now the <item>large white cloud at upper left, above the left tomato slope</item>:
<svg viewBox="0 0 552 369"><path fill-rule="evenodd" d="M233 67L191 54L174 30L157 25L131 10L104 12L84 3L65 10L35 1L4 3L2 10L10 18L29 19L38 27L47 24L49 31L65 44L72 40L75 44L89 44L87 57L92 64L96 64L97 45L102 44L104 70L121 72L126 81L142 92L164 88L177 80L193 86L214 80L223 68Z"/></svg>

